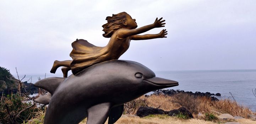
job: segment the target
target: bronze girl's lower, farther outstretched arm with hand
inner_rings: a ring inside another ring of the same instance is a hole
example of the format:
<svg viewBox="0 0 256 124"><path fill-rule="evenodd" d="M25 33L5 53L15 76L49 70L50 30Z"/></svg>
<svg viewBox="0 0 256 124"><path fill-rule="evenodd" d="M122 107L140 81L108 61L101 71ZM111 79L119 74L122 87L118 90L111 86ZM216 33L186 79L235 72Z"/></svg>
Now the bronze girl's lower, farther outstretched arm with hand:
<svg viewBox="0 0 256 124"><path fill-rule="evenodd" d="M154 38L167 38L167 31L163 29L159 34L132 35L131 40L148 40Z"/></svg>

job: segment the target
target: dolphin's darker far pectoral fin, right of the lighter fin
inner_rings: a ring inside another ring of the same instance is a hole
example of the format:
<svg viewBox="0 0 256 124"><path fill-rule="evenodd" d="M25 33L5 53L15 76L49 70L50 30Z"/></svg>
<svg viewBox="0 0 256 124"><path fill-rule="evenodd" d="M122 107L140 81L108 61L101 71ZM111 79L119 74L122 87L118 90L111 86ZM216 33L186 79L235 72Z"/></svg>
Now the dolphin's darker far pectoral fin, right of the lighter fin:
<svg viewBox="0 0 256 124"><path fill-rule="evenodd" d="M108 124L114 124L124 112L124 104L121 106L116 106L111 108L109 117L108 117Z"/></svg>

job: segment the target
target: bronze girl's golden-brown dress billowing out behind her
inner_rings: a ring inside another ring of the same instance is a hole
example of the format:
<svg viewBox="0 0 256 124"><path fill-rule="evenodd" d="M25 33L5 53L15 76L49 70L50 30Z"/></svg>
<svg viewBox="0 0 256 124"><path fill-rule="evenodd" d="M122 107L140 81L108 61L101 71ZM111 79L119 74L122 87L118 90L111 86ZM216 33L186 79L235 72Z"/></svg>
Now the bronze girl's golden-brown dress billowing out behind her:
<svg viewBox="0 0 256 124"><path fill-rule="evenodd" d="M130 37L118 38L117 31L111 36L107 46L99 47L90 44L87 40L76 40L71 45L72 62L70 68L75 75L94 64L109 60L117 60L130 46Z"/></svg>

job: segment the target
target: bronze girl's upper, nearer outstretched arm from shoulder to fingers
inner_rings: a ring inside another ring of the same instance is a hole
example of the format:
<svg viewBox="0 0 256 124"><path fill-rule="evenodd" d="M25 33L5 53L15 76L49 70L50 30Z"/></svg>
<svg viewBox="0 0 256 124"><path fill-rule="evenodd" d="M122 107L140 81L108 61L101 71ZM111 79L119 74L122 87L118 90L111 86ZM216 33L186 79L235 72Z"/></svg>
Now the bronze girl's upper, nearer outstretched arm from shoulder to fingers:
<svg viewBox="0 0 256 124"><path fill-rule="evenodd" d="M117 34L119 36L119 38L127 38L128 36L132 36L132 35L136 35L136 34L141 34L143 32L147 32L148 30L151 30L153 28L160 28L160 27L164 27L163 23L165 20L162 20L162 18L155 20L155 22L153 24L149 24L147 26L143 26L141 28L138 29L126 29L126 28L121 28L118 30Z"/></svg>

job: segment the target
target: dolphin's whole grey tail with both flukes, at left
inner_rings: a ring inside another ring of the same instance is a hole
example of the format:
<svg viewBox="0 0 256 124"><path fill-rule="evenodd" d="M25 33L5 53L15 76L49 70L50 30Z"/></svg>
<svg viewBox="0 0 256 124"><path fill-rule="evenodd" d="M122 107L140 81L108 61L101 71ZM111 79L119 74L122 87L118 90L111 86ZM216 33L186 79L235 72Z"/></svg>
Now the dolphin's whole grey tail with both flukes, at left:
<svg viewBox="0 0 256 124"><path fill-rule="evenodd" d="M48 94L39 96L34 101L41 103L41 104L45 104L45 105L49 104L49 102L51 100L51 95L54 94L54 91L58 88L58 86L64 79L65 78L51 77L51 78L45 78L45 79L37 81L34 84L34 86L48 91Z"/></svg>

